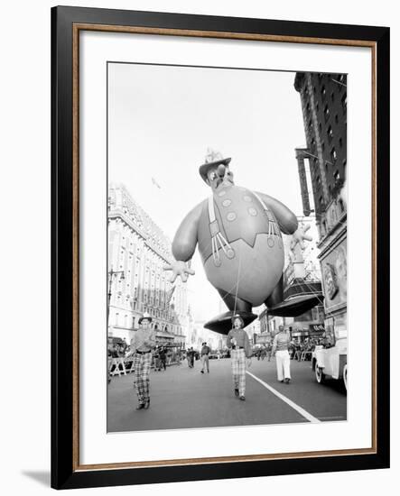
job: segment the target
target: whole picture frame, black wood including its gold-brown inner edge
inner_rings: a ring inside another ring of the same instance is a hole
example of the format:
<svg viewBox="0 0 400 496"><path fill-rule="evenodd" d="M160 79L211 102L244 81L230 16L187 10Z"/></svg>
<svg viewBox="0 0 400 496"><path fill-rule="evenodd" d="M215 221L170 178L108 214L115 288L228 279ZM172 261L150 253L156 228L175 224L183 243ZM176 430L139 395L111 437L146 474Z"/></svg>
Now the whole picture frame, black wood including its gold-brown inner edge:
<svg viewBox="0 0 400 496"><path fill-rule="evenodd" d="M79 32L367 47L372 57L370 448L79 463ZM51 9L51 487L180 482L389 466L389 29L95 8Z"/></svg>

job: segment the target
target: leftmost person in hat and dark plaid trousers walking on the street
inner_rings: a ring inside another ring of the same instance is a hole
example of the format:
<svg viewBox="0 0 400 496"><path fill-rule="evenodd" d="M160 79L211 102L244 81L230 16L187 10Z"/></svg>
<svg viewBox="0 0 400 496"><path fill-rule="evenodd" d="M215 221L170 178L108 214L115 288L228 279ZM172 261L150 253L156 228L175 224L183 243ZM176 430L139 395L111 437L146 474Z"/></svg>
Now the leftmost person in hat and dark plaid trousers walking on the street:
<svg viewBox="0 0 400 496"><path fill-rule="evenodd" d="M129 354L134 354L135 389L139 404L136 409L148 409L150 406L150 368L152 351L155 348L155 332L150 328L152 317L144 313L139 318L139 329L131 340Z"/></svg>

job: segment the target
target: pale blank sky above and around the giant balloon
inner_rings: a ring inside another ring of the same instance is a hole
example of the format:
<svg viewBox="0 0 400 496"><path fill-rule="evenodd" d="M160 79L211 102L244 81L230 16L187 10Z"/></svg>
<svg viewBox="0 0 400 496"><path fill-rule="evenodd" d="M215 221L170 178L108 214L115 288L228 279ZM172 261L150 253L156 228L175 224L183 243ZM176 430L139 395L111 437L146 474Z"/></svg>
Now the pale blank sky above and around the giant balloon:
<svg viewBox="0 0 400 496"><path fill-rule="evenodd" d="M235 183L302 215L294 149L305 146L293 72L108 64L108 181L124 184L172 240L210 195L199 175L210 147L231 157ZM188 282L197 320L219 295L196 252Z"/></svg>

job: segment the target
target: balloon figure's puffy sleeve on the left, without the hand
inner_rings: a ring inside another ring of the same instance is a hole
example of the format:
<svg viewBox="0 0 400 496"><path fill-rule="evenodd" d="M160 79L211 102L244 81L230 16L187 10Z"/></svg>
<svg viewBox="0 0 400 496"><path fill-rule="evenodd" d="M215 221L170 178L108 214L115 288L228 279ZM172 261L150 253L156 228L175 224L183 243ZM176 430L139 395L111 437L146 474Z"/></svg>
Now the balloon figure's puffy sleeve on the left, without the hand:
<svg viewBox="0 0 400 496"><path fill-rule="evenodd" d="M194 207L178 227L178 231L172 242L172 255L177 261L188 262L196 250L197 233L203 204L204 201Z"/></svg>

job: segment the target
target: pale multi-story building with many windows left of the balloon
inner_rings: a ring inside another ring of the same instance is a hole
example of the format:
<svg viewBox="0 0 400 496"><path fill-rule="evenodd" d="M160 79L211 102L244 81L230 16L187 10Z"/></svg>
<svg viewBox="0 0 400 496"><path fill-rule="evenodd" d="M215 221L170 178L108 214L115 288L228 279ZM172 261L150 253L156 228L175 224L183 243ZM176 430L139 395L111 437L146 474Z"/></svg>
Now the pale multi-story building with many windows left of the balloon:
<svg viewBox="0 0 400 496"><path fill-rule="evenodd" d="M187 287L172 286L165 263L171 242L122 185L108 190L108 332L130 341L144 312L160 343L183 345L190 308Z"/></svg>

